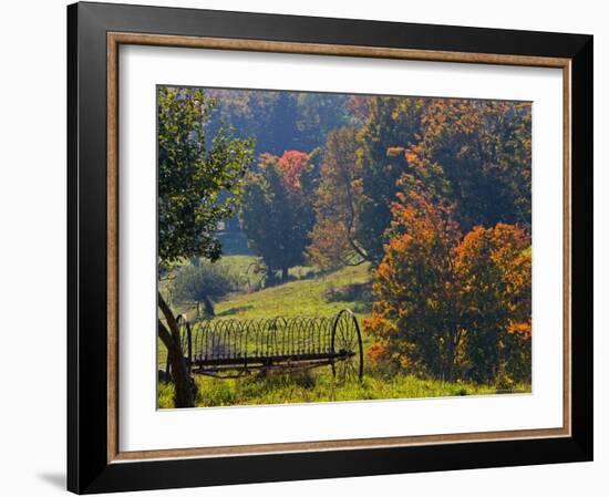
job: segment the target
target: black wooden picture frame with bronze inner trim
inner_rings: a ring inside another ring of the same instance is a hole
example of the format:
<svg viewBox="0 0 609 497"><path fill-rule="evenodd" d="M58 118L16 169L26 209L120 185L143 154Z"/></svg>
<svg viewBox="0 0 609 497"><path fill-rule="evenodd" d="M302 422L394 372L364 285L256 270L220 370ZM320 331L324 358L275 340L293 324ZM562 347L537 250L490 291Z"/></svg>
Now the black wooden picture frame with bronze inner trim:
<svg viewBox="0 0 609 497"><path fill-rule="evenodd" d="M68 8L68 487L87 494L592 458L592 37L103 3ZM122 453L117 53L122 44L559 68L561 428Z"/></svg>

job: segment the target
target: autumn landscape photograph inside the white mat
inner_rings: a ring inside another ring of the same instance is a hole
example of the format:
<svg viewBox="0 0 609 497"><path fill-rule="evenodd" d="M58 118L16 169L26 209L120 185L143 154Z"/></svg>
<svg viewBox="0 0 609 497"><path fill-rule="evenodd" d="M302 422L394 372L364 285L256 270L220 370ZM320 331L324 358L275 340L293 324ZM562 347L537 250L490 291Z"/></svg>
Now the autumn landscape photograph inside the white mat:
<svg viewBox="0 0 609 497"><path fill-rule="evenodd" d="M530 394L531 114L157 84L157 407Z"/></svg>

